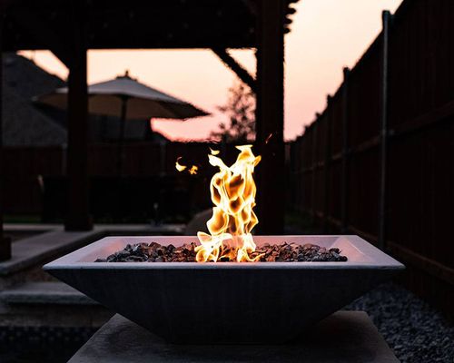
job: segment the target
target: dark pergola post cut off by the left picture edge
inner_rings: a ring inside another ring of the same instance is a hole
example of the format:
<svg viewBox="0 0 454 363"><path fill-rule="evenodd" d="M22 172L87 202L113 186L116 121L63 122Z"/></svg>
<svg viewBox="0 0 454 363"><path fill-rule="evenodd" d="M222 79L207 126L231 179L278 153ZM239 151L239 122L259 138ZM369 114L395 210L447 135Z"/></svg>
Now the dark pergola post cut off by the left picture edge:
<svg viewBox="0 0 454 363"><path fill-rule="evenodd" d="M11 240L3 234L3 180L4 180L4 165L3 165L3 20L4 9L0 6L0 260L11 259Z"/></svg>

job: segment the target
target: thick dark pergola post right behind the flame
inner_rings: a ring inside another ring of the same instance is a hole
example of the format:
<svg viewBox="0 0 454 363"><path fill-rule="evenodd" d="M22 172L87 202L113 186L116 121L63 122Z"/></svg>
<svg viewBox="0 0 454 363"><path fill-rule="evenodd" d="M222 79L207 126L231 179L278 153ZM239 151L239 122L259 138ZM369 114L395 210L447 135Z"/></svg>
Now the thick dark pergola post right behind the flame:
<svg viewBox="0 0 454 363"><path fill-rule="evenodd" d="M284 226L283 0L260 0L257 11L256 143L259 230L281 234Z"/></svg>

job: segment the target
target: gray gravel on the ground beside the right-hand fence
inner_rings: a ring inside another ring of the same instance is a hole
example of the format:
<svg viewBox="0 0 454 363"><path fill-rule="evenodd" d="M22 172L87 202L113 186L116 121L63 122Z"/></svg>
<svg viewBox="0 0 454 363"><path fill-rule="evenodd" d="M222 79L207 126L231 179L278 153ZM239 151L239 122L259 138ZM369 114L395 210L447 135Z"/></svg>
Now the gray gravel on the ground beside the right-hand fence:
<svg viewBox="0 0 454 363"><path fill-rule="evenodd" d="M368 312L402 363L454 363L454 326L399 285L381 285L346 309Z"/></svg>

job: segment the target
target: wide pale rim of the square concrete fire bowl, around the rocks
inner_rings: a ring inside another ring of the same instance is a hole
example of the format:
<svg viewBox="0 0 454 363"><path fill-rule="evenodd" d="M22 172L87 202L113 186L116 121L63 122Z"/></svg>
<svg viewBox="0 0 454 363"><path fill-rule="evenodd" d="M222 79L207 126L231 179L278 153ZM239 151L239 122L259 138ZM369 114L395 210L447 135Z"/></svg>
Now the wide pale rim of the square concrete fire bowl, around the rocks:
<svg viewBox="0 0 454 363"><path fill-rule="evenodd" d="M323 247L340 247L349 258L345 262L94 262L106 258L130 243L152 242L179 245L198 242L196 236L111 236L97 240L82 249L74 250L62 258L44 265L44 270L350 270L380 269L404 270L398 260L379 250L357 235L285 235L254 236L261 243L314 243ZM328 241L327 241L328 240ZM332 243L329 243L332 240ZM321 243L321 241L324 241ZM115 246L111 248L111 246ZM342 248L343 246L343 248ZM345 248L350 251L345 251ZM350 254L350 256L349 256Z"/></svg>

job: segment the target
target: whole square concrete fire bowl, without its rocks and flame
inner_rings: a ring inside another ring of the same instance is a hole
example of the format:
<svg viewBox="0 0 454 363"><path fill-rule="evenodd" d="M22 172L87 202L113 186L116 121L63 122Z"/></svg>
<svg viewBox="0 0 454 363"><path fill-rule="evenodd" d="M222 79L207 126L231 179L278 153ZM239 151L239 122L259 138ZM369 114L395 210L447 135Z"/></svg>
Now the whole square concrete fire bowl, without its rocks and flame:
<svg viewBox="0 0 454 363"><path fill-rule="evenodd" d="M94 262L126 244L196 237L106 237L44 266L59 280L174 343L278 343L404 267L358 236L256 236L339 248L346 262Z"/></svg>

